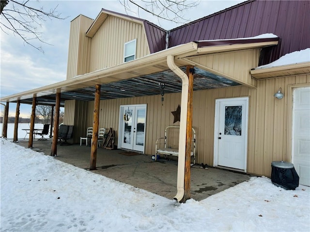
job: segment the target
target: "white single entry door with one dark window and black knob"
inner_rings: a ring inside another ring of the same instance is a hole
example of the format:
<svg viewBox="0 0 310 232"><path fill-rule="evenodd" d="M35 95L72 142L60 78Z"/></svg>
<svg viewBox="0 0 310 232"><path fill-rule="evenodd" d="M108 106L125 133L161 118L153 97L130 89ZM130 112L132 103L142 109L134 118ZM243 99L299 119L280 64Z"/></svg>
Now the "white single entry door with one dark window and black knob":
<svg viewBox="0 0 310 232"><path fill-rule="evenodd" d="M214 166L247 171L248 98L216 100Z"/></svg>

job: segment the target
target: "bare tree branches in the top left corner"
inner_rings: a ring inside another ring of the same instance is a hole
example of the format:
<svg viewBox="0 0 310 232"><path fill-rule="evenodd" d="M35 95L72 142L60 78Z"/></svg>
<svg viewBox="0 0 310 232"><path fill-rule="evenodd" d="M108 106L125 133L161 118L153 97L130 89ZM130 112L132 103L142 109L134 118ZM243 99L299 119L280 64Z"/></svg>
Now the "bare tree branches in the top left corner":
<svg viewBox="0 0 310 232"><path fill-rule="evenodd" d="M41 46L35 45L36 42L51 45L42 39L42 32L38 31L38 28L42 27L42 21L46 21L46 18L64 20L68 16L61 17L61 13L56 11L58 5L49 11L45 11L43 7L33 8L28 3L29 0L1 0L0 14L5 20L1 20L0 28L6 34L9 31L13 32L24 43L31 45L40 52L44 52ZM8 8L8 4L10 4L11 8Z"/></svg>

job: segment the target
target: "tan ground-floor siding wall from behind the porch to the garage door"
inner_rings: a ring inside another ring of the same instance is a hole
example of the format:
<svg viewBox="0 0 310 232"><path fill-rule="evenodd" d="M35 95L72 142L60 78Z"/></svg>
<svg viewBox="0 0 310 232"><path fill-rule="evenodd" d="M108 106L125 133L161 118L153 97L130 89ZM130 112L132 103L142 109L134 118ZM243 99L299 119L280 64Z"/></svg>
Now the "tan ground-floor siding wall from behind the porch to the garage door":
<svg viewBox="0 0 310 232"><path fill-rule="evenodd" d="M309 86L310 74L272 78L258 81L257 88L245 86L215 88L194 91L193 127L196 131L197 163L213 165L214 160L214 116L215 100L223 98L249 97L248 116L248 174L271 175L271 162L291 162L291 143L288 131L292 122L288 105L293 101L286 94L294 85ZM282 87L284 98L273 95ZM93 102L88 102L86 125L93 125ZM113 128L118 139L119 110L121 105L147 104L145 153L155 154L155 141L164 136L167 126L173 124L172 111L181 104L181 93L123 98L100 101L99 127Z"/></svg>

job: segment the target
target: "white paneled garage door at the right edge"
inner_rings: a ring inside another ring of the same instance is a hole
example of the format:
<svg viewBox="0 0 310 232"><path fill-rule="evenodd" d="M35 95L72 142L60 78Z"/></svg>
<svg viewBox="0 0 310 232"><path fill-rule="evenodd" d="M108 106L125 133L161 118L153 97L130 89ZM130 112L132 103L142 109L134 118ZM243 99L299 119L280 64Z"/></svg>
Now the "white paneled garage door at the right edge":
<svg viewBox="0 0 310 232"><path fill-rule="evenodd" d="M310 186L310 87L293 92L293 163L299 184Z"/></svg>

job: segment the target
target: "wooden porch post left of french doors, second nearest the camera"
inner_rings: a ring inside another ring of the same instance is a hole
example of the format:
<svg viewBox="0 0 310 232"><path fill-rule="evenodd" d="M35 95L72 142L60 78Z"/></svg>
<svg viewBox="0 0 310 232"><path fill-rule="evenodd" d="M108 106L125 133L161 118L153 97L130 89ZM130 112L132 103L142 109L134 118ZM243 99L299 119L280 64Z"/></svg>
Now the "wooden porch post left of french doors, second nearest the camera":
<svg viewBox="0 0 310 232"><path fill-rule="evenodd" d="M101 85L96 85L95 102L93 110L93 143L91 149L91 165L90 170L96 169L97 161L97 141L98 141L98 128L99 128L99 104L100 104L100 89Z"/></svg>

